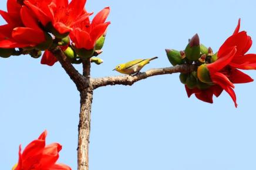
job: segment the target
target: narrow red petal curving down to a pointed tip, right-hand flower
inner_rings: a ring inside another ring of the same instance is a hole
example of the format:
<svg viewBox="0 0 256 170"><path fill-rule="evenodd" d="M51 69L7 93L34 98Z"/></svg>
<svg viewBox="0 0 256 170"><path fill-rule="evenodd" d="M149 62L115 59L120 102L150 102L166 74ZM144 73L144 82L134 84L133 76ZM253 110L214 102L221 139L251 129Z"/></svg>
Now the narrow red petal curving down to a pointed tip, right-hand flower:
<svg viewBox="0 0 256 170"><path fill-rule="evenodd" d="M237 107L237 98L235 96L235 92L233 90L234 85L232 82L229 81L229 79L224 75L221 74L220 72L216 72L214 75L211 75L211 80L215 83L221 86L233 99L235 103L235 107Z"/></svg>

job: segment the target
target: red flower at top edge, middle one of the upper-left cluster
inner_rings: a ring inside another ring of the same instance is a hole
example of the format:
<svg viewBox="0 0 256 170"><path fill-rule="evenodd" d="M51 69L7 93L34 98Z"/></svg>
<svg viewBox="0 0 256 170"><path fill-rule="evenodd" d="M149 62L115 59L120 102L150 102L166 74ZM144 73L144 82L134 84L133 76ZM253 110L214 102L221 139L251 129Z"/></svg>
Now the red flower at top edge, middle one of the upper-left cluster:
<svg viewBox="0 0 256 170"><path fill-rule="evenodd" d="M27 0L27 5L43 26L51 24L59 34L66 34L72 30L72 26L82 22L91 15L85 8L86 0ZM58 36L58 33L54 33Z"/></svg>

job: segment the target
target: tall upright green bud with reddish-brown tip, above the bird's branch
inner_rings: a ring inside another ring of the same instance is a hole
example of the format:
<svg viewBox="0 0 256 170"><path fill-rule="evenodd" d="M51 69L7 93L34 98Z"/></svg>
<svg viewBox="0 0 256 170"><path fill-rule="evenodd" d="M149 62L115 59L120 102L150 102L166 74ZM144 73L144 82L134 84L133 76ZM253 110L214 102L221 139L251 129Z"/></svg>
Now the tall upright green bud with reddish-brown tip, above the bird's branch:
<svg viewBox="0 0 256 170"><path fill-rule="evenodd" d="M198 34L195 34L187 44L185 54L190 61L197 61L200 57L200 41Z"/></svg>

